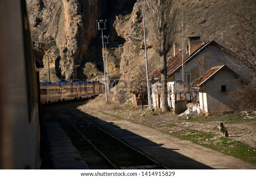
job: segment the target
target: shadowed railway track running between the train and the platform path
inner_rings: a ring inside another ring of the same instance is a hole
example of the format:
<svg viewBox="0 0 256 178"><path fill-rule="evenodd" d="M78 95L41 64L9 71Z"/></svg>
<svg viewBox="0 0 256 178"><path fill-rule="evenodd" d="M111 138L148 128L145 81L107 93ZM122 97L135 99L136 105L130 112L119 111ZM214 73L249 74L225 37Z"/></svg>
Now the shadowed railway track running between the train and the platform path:
<svg viewBox="0 0 256 178"><path fill-rule="evenodd" d="M104 160L100 161L105 165L104 169L168 169L100 128L95 120L84 114L69 109L59 112L59 115L64 118L60 122L61 127L81 152L81 156L86 159L91 156L88 155L89 147L94 149L93 154L98 152L96 155ZM90 162L86 162L90 167ZM94 163L92 168L100 169Z"/></svg>

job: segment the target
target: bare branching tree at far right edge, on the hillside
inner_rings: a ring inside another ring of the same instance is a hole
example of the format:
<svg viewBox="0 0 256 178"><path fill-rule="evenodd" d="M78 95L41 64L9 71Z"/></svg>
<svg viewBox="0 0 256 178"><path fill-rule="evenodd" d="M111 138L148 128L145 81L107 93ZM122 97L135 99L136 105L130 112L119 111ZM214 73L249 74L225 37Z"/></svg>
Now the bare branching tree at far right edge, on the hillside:
<svg viewBox="0 0 256 178"><path fill-rule="evenodd" d="M256 1L244 0L244 11L236 16L239 22L233 39L234 51L239 54L236 60L253 74L256 83Z"/></svg>

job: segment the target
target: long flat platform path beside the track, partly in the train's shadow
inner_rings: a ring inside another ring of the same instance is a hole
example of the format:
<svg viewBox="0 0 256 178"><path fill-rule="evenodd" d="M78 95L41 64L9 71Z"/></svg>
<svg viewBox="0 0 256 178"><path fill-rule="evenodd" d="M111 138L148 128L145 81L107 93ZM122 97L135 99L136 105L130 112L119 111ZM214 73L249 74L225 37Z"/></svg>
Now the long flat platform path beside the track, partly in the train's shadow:
<svg viewBox="0 0 256 178"><path fill-rule="evenodd" d="M212 149L183 141L147 126L111 117L102 112L80 107L81 111L99 118L99 124L115 137L140 149L171 169L256 169L255 164L224 155ZM111 129L108 123L120 129ZM104 124L103 124L104 123ZM127 134L123 134L127 131Z"/></svg>

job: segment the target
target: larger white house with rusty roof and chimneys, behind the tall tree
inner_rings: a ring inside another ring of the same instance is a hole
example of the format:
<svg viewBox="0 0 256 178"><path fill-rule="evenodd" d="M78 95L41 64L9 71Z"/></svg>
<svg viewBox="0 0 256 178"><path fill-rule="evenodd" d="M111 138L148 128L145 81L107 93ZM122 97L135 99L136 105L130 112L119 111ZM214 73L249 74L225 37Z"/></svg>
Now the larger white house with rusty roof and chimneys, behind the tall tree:
<svg viewBox="0 0 256 178"><path fill-rule="evenodd" d="M213 66L226 65L231 68L233 55L232 52L213 40L202 43L200 36L189 37L189 44L186 49L183 49L183 52L177 48L176 44L174 45L174 54L167 60L167 75L169 106L175 110L176 114L186 109L183 108L183 105L187 100L197 100L199 103L197 95L191 88L191 83ZM239 71L238 68L237 71ZM153 107L161 108L160 67L151 72L149 78ZM182 102L183 104L181 104Z"/></svg>

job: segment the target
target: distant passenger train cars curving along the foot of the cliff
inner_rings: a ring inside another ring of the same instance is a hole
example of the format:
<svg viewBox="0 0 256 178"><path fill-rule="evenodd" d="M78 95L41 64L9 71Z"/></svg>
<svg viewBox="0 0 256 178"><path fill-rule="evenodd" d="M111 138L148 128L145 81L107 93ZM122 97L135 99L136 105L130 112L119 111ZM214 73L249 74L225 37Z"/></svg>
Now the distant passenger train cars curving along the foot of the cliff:
<svg viewBox="0 0 256 178"><path fill-rule="evenodd" d="M57 83L41 82L41 104L49 104L66 100L77 100L83 98L94 98L105 92L105 85L99 82L73 82Z"/></svg>

